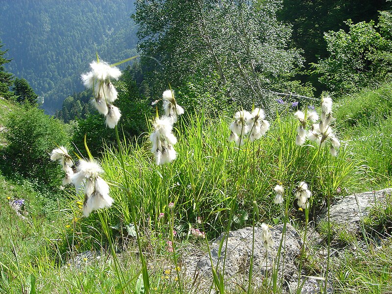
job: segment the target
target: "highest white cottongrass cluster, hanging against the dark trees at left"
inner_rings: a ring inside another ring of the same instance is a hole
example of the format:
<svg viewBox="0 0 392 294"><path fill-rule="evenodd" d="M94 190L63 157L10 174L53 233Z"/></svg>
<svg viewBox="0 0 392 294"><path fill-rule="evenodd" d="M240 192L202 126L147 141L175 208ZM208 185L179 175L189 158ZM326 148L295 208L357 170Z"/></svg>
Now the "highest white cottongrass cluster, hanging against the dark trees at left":
<svg viewBox="0 0 392 294"><path fill-rule="evenodd" d="M98 112L105 116L106 126L114 128L120 121L121 112L113 105L117 99L117 91L111 79L118 80L121 71L105 62L93 61L90 67L89 73L82 74L83 84L93 90L92 103Z"/></svg>

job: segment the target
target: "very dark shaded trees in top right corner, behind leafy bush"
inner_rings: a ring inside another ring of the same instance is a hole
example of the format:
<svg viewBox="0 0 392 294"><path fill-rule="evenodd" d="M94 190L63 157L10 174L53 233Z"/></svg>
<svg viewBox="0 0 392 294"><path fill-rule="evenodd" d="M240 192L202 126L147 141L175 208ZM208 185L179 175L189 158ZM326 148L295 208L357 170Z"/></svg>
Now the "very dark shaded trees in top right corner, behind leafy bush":
<svg viewBox="0 0 392 294"><path fill-rule="evenodd" d="M292 42L304 49L306 64L327 57L324 32L347 30L345 21L354 23L376 20L379 10L387 10L385 0L283 0L279 18L293 25Z"/></svg>

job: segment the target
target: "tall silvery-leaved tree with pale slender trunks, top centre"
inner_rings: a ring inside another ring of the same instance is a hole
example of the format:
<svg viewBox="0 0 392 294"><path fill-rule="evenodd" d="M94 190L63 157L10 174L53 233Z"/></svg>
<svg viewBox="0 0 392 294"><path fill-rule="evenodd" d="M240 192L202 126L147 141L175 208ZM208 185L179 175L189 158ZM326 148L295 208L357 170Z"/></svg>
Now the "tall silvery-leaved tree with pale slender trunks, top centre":
<svg viewBox="0 0 392 294"><path fill-rule="evenodd" d="M302 64L287 49L290 26L277 21L281 1L135 2L142 62L153 95L195 75L219 76L226 100L255 102L270 113L267 90L280 90ZM272 37L273 36L273 37ZM153 58L151 58L153 57Z"/></svg>

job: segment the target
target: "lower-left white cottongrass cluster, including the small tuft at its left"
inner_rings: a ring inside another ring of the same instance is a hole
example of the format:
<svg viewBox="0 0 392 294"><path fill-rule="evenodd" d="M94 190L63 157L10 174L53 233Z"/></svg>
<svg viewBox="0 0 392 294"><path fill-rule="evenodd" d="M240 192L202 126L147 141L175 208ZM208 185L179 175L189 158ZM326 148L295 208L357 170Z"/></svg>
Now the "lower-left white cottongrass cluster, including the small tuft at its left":
<svg viewBox="0 0 392 294"><path fill-rule="evenodd" d="M50 154L50 159L59 161L66 176L63 184L75 186L76 193L83 188L84 202L83 214L88 217L93 210L110 207L113 198L109 196L109 185L99 176L103 172L98 163L94 161L79 160L76 173L73 173L73 161L63 146L54 149Z"/></svg>

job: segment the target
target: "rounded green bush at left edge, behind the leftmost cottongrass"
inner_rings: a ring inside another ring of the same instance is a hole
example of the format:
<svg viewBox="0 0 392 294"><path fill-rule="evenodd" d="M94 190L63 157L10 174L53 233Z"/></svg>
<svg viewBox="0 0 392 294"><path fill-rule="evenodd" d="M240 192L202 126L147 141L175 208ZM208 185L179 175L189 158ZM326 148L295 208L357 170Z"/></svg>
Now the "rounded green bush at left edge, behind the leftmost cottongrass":
<svg viewBox="0 0 392 294"><path fill-rule="evenodd" d="M8 146L4 150L3 172L18 173L48 186L56 186L63 174L58 163L49 159L57 145L67 145L64 125L36 107L12 113L6 124Z"/></svg>

